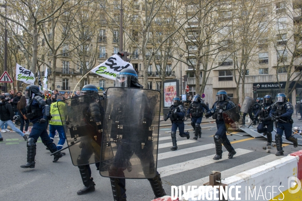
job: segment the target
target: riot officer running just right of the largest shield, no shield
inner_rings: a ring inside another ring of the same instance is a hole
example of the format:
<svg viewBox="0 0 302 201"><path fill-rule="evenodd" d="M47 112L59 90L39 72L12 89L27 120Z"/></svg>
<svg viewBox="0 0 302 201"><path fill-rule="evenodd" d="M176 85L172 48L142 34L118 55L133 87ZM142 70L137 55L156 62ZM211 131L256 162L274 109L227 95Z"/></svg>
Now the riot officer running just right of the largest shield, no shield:
<svg viewBox="0 0 302 201"><path fill-rule="evenodd" d="M177 143L176 143L177 128L179 129L180 137L182 138L187 137L187 139L190 138L189 132L184 132L185 110L184 107L180 104L180 98L178 96L175 96L173 98L173 105L170 107L169 113L165 118L165 121L167 121L169 117L172 122L171 138L172 138L173 147L171 147L171 150L175 151L177 150Z"/></svg>

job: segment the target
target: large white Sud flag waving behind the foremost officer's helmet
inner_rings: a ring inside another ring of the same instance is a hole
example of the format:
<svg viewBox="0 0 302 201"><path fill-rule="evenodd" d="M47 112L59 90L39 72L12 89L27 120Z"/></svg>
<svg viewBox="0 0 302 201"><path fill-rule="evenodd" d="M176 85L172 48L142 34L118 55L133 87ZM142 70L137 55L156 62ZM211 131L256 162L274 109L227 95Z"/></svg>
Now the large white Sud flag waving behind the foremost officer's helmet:
<svg viewBox="0 0 302 201"><path fill-rule="evenodd" d="M111 56L104 63L91 70L100 76L115 80L115 77L124 68L133 68L131 63L123 61L117 54Z"/></svg>

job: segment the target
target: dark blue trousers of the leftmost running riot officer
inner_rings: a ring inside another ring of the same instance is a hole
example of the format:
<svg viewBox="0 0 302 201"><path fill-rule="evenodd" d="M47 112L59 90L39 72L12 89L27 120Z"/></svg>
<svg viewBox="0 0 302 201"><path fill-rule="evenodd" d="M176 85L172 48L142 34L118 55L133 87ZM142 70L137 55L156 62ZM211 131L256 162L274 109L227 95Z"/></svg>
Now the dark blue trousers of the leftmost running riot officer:
<svg viewBox="0 0 302 201"><path fill-rule="evenodd" d="M55 144L52 142L52 140L49 138L49 135L46 130L46 126L47 123L42 123L42 124L39 122L34 123L28 138L33 138L35 139L35 141L38 141L38 138L40 137L45 146L47 147L50 146L52 150L56 151L57 148Z"/></svg>

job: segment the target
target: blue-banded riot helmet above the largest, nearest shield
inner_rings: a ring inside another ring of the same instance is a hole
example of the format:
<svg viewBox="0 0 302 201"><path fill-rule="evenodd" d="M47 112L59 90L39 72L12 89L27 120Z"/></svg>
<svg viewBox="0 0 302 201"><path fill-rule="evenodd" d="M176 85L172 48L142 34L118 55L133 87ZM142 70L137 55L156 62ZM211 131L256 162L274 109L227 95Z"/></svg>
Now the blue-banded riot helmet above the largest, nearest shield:
<svg viewBox="0 0 302 201"><path fill-rule="evenodd" d="M138 76L133 68L122 69L120 73L116 75L115 86L143 88L143 86L138 83Z"/></svg>

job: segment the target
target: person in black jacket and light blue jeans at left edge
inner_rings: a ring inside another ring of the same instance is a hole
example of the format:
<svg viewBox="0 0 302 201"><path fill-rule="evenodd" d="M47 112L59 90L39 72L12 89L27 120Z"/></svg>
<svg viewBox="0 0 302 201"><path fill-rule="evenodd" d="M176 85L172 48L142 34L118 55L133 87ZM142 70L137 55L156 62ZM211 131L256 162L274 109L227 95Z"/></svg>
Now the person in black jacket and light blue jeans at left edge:
<svg viewBox="0 0 302 201"><path fill-rule="evenodd" d="M22 131L17 129L14 123L12 122L14 120L13 108L10 104L6 102L4 95L0 95L0 102L1 102L0 103L0 127L2 127L5 123L7 123L8 126L10 126L13 131L15 131L20 136L22 136L24 140L27 140L27 136L24 135ZM0 141L3 141L1 132L0 132Z"/></svg>

